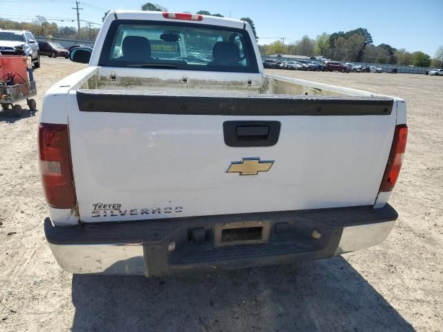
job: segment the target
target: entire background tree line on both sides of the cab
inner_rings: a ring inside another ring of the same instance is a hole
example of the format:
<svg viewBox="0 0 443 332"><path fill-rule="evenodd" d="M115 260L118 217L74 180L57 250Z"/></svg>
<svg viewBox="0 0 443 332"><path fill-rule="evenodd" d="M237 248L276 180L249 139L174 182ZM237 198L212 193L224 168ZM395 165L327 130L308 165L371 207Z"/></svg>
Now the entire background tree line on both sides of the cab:
<svg viewBox="0 0 443 332"><path fill-rule="evenodd" d="M166 11L167 8L147 2L141 6L141 10ZM108 12L102 17L102 21ZM219 13L211 13L208 10L199 10L196 14L224 17ZM255 24L250 17L242 17L240 20L247 21L253 30L255 39L258 40ZM36 16L31 22L17 22L10 19L0 19L0 28L29 30L34 35L43 37L60 37L66 39L81 39L94 41L98 35L98 28L80 28L71 26L57 26L54 22L48 22L45 17ZM443 46L437 48L434 57L431 58L422 51L408 52L404 48L394 48L388 44L374 45L372 36L365 28L357 28L347 32L322 33L316 39L303 36L296 42L284 44L276 41L268 45L259 45L262 55L288 54L317 56L323 55L328 59L343 62L372 62L378 64L399 64L413 66L435 66L443 68Z"/></svg>

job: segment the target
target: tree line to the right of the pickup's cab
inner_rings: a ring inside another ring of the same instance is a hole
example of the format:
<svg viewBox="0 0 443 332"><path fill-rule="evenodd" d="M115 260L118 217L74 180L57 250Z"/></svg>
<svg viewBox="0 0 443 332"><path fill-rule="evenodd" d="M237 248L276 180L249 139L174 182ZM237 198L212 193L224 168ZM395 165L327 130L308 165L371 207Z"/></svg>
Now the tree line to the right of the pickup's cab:
<svg viewBox="0 0 443 332"><path fill-rule="evenodd" d="M365 28L347 32L322 33L316 39L308 35L296 42L284 44L278 40L260 45L262 55L288 54L309 57L323 55L328 59L342 62L372 62L377 64L398 64L404 66L435 66L443 68L443 46L437 48L433 58L422 51L408 52L388 44L374 45L372 36Z"/></svg>

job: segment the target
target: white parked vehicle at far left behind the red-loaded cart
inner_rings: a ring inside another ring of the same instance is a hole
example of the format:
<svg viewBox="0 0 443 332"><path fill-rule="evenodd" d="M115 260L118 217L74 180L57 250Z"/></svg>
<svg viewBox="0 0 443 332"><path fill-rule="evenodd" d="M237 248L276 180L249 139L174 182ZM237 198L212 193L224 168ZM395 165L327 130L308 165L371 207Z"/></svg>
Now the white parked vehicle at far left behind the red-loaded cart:
<svg viewBox="0 0 443 332"><path fill-rule="evenodd" d="M30 31L0 29L2 55L28 55L36 68L40 66L39 44Z"/></svg>

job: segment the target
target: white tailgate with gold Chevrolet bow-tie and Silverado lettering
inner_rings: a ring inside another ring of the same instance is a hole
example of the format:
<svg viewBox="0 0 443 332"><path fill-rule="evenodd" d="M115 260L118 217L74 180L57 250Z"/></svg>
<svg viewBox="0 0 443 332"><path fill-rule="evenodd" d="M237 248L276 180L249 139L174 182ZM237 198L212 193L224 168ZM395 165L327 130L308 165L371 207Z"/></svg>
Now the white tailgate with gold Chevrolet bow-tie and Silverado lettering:
<svg viewBox="0 0 443 332"><path fill-rule="evenodd" d="M373 205L396 107L392 98L71 91L80 220ZM277 123L278 138L268 146L228 146L229 121L263 123L258 141L262 127ZM246 176L248 160L253 175Z"/></svg>

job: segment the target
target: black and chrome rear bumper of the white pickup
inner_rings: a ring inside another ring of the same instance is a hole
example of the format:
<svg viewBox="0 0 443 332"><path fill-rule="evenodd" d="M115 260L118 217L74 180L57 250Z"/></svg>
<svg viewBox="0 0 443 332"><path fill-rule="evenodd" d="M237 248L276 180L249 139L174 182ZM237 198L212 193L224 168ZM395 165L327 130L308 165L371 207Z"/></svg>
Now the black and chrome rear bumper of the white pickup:
<svg viewBox="0 0 443 332"><path fill-rule="evenodd" d="M47 218L44 227L55 259L68 272L150 277L332 257L381 243L396 219L386 205L68 227L55 227ZM266 225L265 243L219 246L217 229L232 223ZM203 238L192 237L196 229Z"/></svg>

